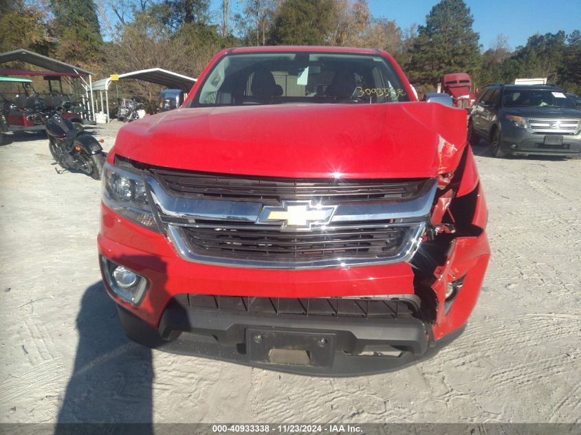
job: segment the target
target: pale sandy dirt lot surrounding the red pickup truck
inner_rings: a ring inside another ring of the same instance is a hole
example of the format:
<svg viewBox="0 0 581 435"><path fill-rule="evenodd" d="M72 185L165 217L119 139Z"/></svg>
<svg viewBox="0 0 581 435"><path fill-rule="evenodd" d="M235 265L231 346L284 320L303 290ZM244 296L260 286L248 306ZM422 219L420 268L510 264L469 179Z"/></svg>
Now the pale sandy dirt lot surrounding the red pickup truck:
<svg viewBox="0 0 581 435"><path fill-rule="evenodd" d="M93 129L113 145L120 123ZM0 146L0 422L581 422L581 160L475 147L492 259L465 333L385 375L313 378L147 350L100 284L100 183L41 135Z"/></svg>

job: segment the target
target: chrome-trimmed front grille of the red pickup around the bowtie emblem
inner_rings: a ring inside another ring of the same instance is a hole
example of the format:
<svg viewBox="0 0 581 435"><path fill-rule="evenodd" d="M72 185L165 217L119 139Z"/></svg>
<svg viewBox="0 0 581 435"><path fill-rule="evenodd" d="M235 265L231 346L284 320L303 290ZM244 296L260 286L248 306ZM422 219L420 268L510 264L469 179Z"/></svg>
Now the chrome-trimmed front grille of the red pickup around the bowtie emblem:
<svg viewBox="0 0 581 435"><path fill-rule="evenodd" d="M206 185L197 174L150 173L156 217L182 258L264 269L407 261L421 243L437 188L434 179L368 180L358 186L352 180L263 183L228 175L208 175ZM300 201L287 202L293 199ZM284 212L289 204L327 207L332 214L303 227L265 219L268 210Z"/></svg>

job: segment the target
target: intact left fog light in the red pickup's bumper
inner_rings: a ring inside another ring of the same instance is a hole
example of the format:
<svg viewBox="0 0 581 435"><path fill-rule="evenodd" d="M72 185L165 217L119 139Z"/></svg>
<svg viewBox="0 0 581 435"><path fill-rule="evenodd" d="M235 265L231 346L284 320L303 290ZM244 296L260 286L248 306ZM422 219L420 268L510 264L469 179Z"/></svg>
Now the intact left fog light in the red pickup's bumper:
<svg viewBox="0 0 581 435"><path fill-rule="evenodd" d="M125 302L135 306L139 305L148 287L146 278L127 267L107 260L105 257L101 257L101 261L103 274L111 291Z"/></svg>

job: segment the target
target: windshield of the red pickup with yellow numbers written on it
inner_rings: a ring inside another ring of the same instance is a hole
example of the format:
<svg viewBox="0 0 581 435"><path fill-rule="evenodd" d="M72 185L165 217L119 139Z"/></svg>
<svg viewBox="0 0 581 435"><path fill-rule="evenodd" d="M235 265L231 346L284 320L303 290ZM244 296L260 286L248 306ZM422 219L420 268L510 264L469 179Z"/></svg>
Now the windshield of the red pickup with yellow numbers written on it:
<svg viewBox="0 0 581 435"><path fill-rule="evenodd" d="M212 68L193 106L409 101L381 56L308 52L228 54Z"/></svg>

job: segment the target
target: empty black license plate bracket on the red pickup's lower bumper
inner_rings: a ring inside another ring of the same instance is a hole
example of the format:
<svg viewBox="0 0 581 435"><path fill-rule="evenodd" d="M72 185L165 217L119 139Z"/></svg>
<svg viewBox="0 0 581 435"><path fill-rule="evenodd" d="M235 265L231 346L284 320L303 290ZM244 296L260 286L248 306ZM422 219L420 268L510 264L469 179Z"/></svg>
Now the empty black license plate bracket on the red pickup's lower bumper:
<svg viewBox="0 0 581 435"><path fill-rule="evenodd" d="M248 359L261 364L330 367L335 344L333 333L246 329Z"/></svg>

